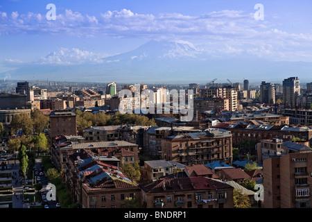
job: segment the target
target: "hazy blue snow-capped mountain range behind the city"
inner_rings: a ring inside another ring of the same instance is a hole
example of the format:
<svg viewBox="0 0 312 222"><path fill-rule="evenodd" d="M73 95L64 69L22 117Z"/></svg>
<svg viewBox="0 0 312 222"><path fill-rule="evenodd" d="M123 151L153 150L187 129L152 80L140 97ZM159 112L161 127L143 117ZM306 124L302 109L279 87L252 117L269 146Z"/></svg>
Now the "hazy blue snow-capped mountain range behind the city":
<svg viewBox="0 0 312 222"><path fill-rule="evenodd" d="M16 80L68 80L117 83L207 83L218 79L284 78L309 76L310 62L274 62L256 56L213 56L189 42L151 40L116 56L101 56L79 49L50 53L43 60L21 63L1 76ZM241 77L243 76L243 78Z"/></svg>

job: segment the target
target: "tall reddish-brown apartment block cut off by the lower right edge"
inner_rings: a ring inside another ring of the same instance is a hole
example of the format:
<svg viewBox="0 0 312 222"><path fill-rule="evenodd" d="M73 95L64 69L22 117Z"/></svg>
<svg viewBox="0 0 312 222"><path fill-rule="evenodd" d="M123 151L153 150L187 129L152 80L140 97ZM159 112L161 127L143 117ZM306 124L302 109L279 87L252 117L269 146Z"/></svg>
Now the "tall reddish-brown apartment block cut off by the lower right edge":
<svg viewBox="0 0 312 222"><path fill-rule="evenodd" d="M265 208L311 208L312 152L294 152L263 161Z"/></svg>

